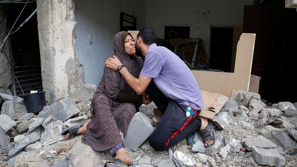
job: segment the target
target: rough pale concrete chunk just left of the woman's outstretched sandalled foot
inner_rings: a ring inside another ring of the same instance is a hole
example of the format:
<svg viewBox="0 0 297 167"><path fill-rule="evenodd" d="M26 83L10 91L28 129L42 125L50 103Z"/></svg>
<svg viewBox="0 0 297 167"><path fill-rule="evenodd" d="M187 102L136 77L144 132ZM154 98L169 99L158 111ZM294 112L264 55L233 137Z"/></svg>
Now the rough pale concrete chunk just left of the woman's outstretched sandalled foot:
<svg viewBox="0 0 297 167"><path fill-rule="evenodd" d="M63 125L64 123L61 120L48 124L40 138L42 145L49 145L64 140L65 136L61 136Z"/></svg>

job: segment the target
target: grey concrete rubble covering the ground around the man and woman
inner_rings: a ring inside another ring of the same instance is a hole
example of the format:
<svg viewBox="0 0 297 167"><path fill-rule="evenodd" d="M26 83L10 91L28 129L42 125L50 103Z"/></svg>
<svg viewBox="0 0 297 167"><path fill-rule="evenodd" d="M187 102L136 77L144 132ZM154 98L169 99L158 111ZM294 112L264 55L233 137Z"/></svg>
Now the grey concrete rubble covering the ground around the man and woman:
<svg viewBox="0 0 297 167"><path fill-rule="evenodd" d="M89 119L90 105L91 99L80 102L65 98L45 106L38 115L25 109L15 114L10 109L13 106L4 107L0 115L0 166L102 166L113 159L109 151L95 151L82 143L82 135L70 139L60 135L63 129ZM266 106L259 94L239 91L217 114L231 128L216 123L214 145L204 147L196 132L193 147L184 139L166 151L155 151L149 145L155 129L151 124L154 108L153 102L142 105L123 136L132 166L297 165L296 104Z"/></svg>

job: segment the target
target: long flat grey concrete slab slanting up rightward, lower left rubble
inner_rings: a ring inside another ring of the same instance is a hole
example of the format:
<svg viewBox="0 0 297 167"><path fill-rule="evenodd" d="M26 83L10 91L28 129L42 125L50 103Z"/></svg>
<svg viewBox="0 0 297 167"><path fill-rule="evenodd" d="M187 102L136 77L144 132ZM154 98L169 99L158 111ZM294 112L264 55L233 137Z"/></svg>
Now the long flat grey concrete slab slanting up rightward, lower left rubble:
<svg viewBox="0 0 297 167"><path fill-rule="evenodd" d="M20 151L23 151L25 147L29 144L35 143L36 141L40 140L40 135L36 132L32 134L28 134L27 136L23 137L18 143L15 144L15 148L10 150L8 155L12 157L16 155Z"/></svg>

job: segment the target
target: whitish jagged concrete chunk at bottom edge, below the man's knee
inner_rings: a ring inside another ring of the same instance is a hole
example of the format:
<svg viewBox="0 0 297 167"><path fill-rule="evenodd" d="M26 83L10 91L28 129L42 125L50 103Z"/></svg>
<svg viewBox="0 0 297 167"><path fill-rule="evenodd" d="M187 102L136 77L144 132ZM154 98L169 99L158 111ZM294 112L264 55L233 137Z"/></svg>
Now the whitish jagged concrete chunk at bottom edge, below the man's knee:
<svg viewBox="0 0 297 167"><path fill-rule="evenodd" d="M196 164L196 161L194 158L188 154L185 154L181 151L174 151L172 155L172 160L176 167L182 167L182 166L194 166Z"/></svg>

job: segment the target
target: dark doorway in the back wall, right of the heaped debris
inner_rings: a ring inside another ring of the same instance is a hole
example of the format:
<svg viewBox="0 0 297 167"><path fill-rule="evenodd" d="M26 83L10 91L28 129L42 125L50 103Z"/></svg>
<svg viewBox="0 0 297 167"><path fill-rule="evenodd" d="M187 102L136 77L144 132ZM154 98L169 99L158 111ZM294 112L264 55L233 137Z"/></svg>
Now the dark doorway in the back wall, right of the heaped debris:
<svg viewBox="0 0 297 167"><path fill-rule="evenodd" d="M231 71L233 26L211 26L210 64L213 69Z"/></svg>

